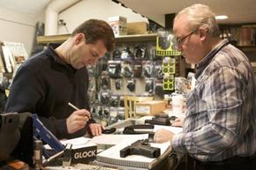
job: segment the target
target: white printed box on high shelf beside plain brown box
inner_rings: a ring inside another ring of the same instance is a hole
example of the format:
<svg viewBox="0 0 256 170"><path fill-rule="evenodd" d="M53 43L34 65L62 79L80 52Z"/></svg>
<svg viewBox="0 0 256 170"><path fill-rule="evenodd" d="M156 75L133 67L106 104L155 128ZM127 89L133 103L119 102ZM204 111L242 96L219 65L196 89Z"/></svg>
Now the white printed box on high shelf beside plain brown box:
<svg viewBox="0 0 256 170"><path fill-rule="evenodd" d="M116 16L109 17L109 26L112 27L115 36L127 34L127 18Z"/></svg>

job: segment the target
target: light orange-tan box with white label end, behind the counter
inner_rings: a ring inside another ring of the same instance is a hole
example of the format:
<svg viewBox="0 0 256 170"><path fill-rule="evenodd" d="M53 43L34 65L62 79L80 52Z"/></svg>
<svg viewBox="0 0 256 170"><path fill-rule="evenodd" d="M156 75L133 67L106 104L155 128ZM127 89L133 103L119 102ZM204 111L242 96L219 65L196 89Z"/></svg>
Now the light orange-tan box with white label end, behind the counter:
<svg viewBox="0 0 256 170"><path fill-rule="evenodd" d="M166 109L164 100L141 101L136 104L136 115L156 115L161 114Z"/></svg>

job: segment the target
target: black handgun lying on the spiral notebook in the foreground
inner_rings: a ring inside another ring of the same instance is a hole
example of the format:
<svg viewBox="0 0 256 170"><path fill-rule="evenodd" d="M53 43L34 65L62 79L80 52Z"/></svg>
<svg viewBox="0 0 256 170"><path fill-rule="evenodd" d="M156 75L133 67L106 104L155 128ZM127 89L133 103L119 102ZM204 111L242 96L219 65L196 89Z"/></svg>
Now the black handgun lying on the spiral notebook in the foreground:
<svg viewBox="0 0 256 170"><path fill-rule="evenodd" d="M149 158L158 158L161 154L160 148L151 147L148 139L138 140L120 151L120 157L125 158L128 155L143 155Z"/></svg>

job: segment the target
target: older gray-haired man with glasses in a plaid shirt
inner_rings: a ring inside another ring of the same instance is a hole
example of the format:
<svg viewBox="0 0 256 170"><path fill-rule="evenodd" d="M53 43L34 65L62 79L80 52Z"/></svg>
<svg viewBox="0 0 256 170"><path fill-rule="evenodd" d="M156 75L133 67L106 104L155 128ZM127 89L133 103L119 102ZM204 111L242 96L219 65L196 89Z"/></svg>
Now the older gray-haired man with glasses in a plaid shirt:
<svg viewBox="0 0 256 170"><path fill-rule="evenodd" d="M196 64L182 133L156 131L155 142L189 155L194 169L252 169L256 157L255 78L246 55L220 38L215 13L204 4L180 11L174 47ZM182 121L182 120L179 120Z"/></svg>

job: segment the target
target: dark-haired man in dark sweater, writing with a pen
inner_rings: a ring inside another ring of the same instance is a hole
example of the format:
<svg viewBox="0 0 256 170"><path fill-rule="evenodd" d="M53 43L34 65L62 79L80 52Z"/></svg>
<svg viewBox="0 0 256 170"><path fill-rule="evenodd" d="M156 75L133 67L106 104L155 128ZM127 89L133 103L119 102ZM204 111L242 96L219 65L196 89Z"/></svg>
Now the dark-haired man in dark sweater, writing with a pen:
<svg viewBox="0 0 256 170"><path fill-rule="evenodd" d="M11 85L5 112L37 114L57 138L102 134L92 119L87 99L87 65L115 46L111 27L90 19L78 26L58 48L48 47L23 63ZM79 110L70 107L71 102Z"/></svg>

